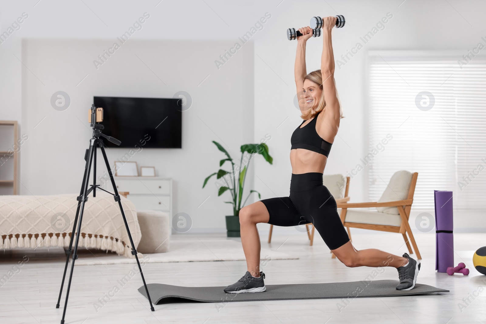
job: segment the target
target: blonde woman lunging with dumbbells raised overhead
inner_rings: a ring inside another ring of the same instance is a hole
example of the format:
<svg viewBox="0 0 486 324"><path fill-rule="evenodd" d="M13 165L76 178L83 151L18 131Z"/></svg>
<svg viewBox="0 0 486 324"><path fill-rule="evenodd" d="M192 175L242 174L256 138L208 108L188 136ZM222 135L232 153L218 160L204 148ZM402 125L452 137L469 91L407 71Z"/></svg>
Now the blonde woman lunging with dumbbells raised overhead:
<svg viewBox="0 0 486 324"><path fill-rule="evenodd" d="M341 222L336 201L323 186L322 175L332 142L343 118L334 83L331 30L335 17L323 18L321 69L306 74L305 48L312 36L310 27L300 28L295 57L295 85L304 100L299 101L304 121L292 134L290 196L263 199L240 210L241 239L247 272L226 292L265 291L260 272L260 237L257 223L295 226L312 222L334 255L347 267L395 267L397 290L415 287L420 262L408 254L395 256L377 249L356 250Z"/></svg>

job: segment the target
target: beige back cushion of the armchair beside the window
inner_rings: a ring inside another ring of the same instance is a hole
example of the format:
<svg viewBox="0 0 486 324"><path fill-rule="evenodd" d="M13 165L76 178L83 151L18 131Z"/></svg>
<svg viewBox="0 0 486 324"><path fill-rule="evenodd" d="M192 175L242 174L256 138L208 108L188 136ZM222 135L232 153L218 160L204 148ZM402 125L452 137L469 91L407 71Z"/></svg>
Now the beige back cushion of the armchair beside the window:
<svg viewBox="0 0 486 324"><path fill-rule="evenodd" d="M409 171L401 170L395 172L378 202L386 203L407 199L411 182L412 173ZM397 207L376 207L376 210L385 214L399 215Z"/></svg>

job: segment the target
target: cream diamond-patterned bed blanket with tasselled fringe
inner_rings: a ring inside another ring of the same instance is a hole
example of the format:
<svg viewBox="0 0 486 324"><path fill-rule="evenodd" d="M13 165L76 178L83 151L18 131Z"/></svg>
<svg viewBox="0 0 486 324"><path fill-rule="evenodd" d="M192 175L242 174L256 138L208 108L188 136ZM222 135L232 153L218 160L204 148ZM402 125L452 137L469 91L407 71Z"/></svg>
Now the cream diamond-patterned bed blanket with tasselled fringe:
<svg viewBox="0 0 486 324"><path fill-rule="evenodd" d="M0 249L69 246L78 205L77 196L0 196ZM141 238L137 210L123 196L121 205L137 248ZM134 257L120 207L109 193L96 190L96 197L92 197L92 193L89 195L81 234L81 247L115 251L119 255Z"/></svg>

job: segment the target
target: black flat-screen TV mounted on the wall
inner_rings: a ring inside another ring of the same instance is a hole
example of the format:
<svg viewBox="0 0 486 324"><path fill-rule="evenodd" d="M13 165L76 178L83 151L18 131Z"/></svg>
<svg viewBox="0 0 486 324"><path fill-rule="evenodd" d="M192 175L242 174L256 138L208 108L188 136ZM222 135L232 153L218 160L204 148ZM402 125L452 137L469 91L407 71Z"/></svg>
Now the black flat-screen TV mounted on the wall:
<svg viewBox="0 0 486 324"><path fill-rule="evenodd" d="M182 148L182 102L178 98L94 97L103 108L103 133L121 140L107 147Z"/></svg>

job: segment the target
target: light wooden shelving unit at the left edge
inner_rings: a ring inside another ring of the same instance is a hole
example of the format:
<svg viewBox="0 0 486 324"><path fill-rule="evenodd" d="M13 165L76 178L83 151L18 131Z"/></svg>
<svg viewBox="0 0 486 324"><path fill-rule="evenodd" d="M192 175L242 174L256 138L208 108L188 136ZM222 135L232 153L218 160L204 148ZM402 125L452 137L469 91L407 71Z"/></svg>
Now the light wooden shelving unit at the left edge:
<svg viewBox="0 0 486 324"><path fill-rule="evenodd" d="M0 120L0 194L18 194L18 145L16 120ZM10 131L9 128L12 130ZM9 189L11 188L11 190Z"/></svg>

